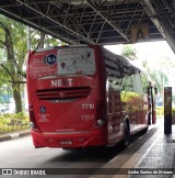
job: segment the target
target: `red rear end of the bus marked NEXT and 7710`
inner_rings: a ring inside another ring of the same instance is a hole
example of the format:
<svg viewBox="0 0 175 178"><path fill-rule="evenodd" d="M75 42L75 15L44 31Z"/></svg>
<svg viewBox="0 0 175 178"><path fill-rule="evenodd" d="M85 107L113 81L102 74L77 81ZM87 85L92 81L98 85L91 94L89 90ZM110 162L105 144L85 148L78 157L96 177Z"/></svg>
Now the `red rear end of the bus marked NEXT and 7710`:
<svg viewBox="0 0 175 178"><path fill-rule="evenodd" d="M27 92L35 147L107 144L98 52L78 46L31 53Z"/></svg>

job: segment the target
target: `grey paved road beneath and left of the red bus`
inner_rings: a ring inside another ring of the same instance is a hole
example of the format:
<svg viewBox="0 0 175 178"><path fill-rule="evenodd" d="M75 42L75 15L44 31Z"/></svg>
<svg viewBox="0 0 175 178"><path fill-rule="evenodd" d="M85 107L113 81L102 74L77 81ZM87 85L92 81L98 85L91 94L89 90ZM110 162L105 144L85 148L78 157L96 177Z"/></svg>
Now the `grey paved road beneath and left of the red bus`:
<svg viewBox="0 0 175 178"><path fill-rule="evenodd" d="M130 147L126 149L124 149L121 144L108 148L86 148L80 151L63 151L61 148L36 149L33 146L31 136L20 137L0 143L0 168L101 168L117 155L120 157L118 166L122 167L130 156L135 154L135 152L137 152L155 132L156 127L144 135L137 134L132 137ZM126 155L128 149L129 154ZM91 175L93 174L91 173ZM83 177L90 177L91 175L83 175ZM1 177L20 178L22 176ZM30 176L24 177L26 178ZM35 177L38 178L38 176ZM82 177L82 175L56 175L47 177L79 178Z"/></svg>

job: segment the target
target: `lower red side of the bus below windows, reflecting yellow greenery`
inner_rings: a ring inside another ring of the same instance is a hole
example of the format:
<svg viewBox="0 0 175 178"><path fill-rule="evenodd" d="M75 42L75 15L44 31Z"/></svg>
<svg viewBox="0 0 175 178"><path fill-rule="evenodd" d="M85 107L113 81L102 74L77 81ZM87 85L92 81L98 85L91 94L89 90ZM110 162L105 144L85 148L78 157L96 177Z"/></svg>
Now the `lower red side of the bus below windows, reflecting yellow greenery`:
<svg viewBox="0 0 175 178"><path fill-rule="evenodd" d="M147 100L137 92L108 91L108 144L124 138L124 122L129 120L130 133L148 126Z"/></svg>

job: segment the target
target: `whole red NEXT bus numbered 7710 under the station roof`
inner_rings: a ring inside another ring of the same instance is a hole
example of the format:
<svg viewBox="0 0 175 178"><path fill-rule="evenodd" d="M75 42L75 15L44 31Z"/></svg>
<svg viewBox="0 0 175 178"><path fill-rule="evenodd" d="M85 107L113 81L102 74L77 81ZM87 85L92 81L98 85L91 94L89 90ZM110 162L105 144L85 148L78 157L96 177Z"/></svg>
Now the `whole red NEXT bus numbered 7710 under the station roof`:
<svg viewBox="0 0 175 178"><path fill-rule="evenodd" d="M27 93L34 146L113 146L155 122L154 87L100 45L31 52ZM152 121L151 121L152 120Z"/></svg>

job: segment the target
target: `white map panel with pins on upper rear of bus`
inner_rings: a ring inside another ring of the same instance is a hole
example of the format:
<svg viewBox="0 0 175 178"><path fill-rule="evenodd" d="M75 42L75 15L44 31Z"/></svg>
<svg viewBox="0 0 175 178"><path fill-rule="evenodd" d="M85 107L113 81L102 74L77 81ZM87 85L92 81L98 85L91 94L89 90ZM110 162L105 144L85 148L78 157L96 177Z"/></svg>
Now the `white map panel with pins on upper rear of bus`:
<svg viewBox="0 0 175 178"><path fill-rule="evenodd" d="M94 75L94 51L89 47L58 49L57 67L58 75Z"/></svg>

